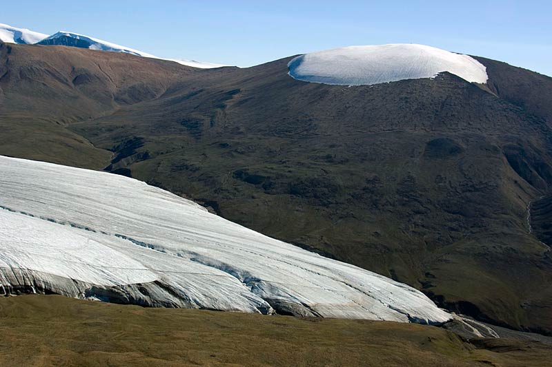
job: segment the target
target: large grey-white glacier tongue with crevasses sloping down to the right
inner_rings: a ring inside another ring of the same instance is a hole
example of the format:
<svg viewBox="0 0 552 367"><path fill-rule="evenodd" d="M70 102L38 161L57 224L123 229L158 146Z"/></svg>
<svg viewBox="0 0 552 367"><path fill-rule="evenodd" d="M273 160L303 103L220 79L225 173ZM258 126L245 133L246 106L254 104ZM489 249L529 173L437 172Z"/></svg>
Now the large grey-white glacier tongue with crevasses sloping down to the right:
<svg viewBox="0 0 552 367"><path fill-rule="evenodd" d="M410 286L144 182L0 156L0 295L17 291L248 313L451 319Z"/></svg>

